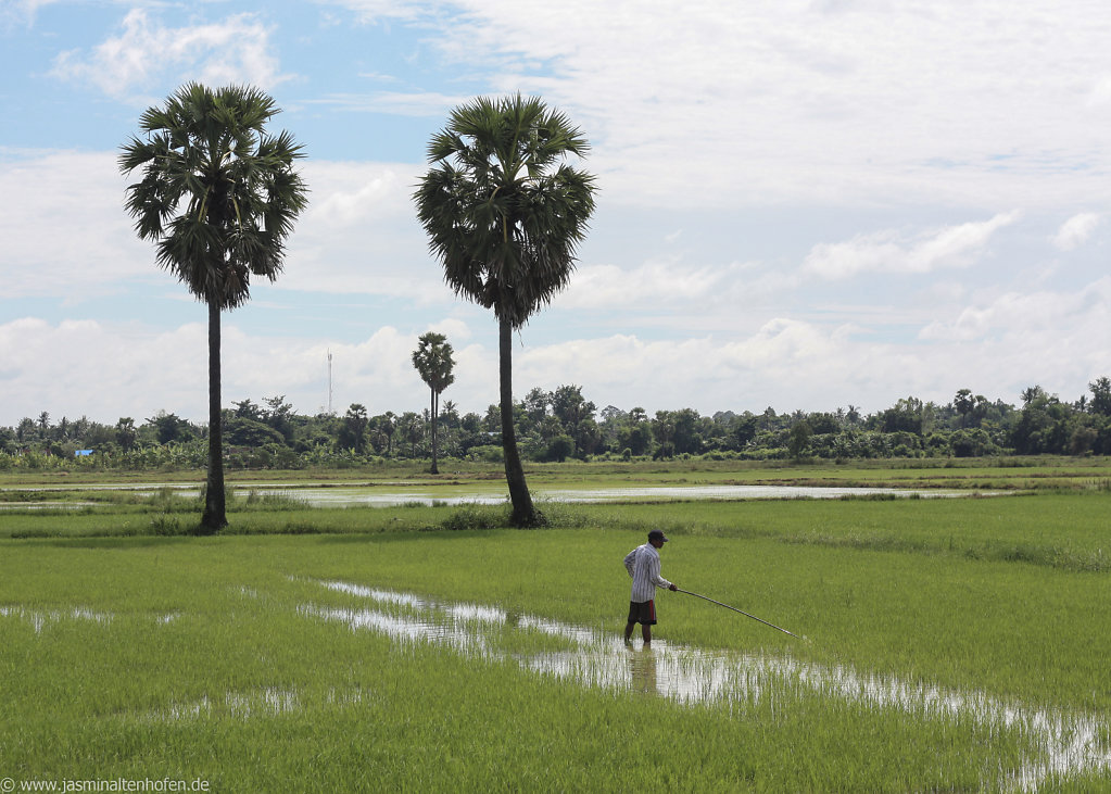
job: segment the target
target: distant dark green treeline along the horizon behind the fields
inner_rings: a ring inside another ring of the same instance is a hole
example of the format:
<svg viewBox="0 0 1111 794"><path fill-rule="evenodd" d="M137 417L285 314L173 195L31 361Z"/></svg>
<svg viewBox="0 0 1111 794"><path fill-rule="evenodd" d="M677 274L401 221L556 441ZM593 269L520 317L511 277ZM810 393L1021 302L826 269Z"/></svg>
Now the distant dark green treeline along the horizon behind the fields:
<svg viewBox="0 0 1111 794"><path fill-rule="evenodd" d="M961 389L939 405L910 396L861 414L761 413L692 409L602 410L582 386L533 389L514 405L521 454L530 461L633 460L705 456L713 460L848 460L861 458L973 458L1029 454L1111 454L1111 379L1090 394L1064 402L1041 386L1022 393L1020 406ZM294 413L284 396L257 404L233 402L223 412L224 453L233 469L354 468L431 454L429 411L371 416L358 403L342 415ZM439 416L441 460L501 459L497 405L460 414L450 400ZM0 428L0 470L202 469L207 428L172 413L114 425L86 418L58 422L43 412Z"/></svg>

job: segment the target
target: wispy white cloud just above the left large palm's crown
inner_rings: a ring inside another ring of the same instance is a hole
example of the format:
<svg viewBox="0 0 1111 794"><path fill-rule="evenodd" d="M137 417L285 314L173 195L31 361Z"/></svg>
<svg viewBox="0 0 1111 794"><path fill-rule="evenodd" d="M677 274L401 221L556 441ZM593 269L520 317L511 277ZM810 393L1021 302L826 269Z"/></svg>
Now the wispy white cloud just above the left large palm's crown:
<svg viewBox="0 0 1111 794"><path fill-rule="evenodd" d="M250 83L271 90L289 79L279 72L270 30L250 13L220 23L166 28L138 8L128 12L118 37L107 39L91 53L62 52L51 73L92 83L120 99L164 81Z"/></svg>

